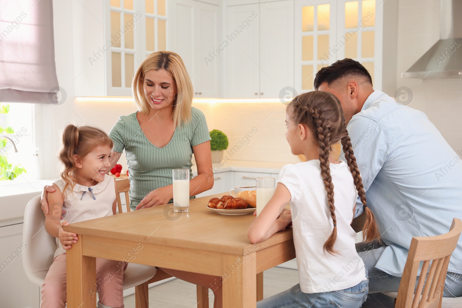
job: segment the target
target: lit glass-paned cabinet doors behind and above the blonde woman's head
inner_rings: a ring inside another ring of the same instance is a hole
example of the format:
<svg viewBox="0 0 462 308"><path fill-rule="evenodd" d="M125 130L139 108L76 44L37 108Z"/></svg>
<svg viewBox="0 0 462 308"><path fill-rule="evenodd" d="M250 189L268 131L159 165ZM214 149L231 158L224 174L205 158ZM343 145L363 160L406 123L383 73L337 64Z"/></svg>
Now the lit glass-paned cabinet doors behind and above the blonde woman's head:
<svg viewBox="0 0 462 308"><path fill-rule="evenodd" d="M106 0L105 38L108 96L132 96L136 68L167 48L166 0Z"/></svg>

